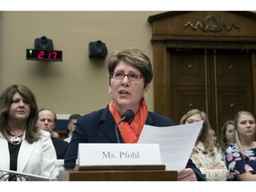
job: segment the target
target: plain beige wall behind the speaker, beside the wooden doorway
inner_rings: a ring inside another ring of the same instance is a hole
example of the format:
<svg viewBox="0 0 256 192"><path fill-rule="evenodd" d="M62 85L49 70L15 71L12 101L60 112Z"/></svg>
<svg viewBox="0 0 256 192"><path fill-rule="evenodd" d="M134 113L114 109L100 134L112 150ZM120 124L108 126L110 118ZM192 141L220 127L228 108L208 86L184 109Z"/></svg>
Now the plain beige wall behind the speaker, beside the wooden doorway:
<svg viewBox="0 0 256 192"><path fill-rule="evenodd" d="M148 16L156 13L0 12L0 92L10 84L25 84L36 94L39 108L57 114L105 108L110 100L107 62L89 59L89 42L103 41L108 53L137 47L152 60ZM26 49L34 49L41 36L63 52L61 62L26 60ZM146 98L152 111L153 91L152 82Z"/></svg>

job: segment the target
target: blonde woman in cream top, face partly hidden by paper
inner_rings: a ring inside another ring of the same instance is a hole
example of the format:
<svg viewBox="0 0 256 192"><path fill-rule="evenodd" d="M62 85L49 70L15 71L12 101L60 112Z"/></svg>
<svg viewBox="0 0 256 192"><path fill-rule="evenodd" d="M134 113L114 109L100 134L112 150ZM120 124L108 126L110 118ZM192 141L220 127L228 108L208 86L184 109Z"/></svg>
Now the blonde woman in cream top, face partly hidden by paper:
<svg viewBox="0 0 256 192"><path fill-rule="evenodd" d="M205 175L206 180L227 180L228 170L214 147L209 130L212 129L208 116L198 109L189 110L180 119L180 124L192 124L204 120L190 158Z"/></svg>

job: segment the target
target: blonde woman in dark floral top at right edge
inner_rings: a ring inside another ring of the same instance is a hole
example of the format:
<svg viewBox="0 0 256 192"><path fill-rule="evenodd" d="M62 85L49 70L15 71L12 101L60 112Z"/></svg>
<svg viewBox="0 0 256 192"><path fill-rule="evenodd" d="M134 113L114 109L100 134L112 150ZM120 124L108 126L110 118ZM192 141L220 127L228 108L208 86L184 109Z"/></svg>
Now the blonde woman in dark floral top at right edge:
<svg viewBox="0 0 256 192"><path fill-rule="evenodd" d="M234 122L234 143L225 153L228 180L256 180L255 118L248 111L239 111Z"/></svg>

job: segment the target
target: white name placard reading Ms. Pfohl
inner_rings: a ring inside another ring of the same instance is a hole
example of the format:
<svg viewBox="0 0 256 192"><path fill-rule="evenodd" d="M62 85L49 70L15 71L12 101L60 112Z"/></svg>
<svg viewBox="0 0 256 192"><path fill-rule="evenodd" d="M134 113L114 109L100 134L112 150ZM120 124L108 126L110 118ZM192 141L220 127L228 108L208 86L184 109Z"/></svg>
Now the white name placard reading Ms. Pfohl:
<svg viewBox="0 0 256 192"><path fill-rule="evenodd" d="M79 143L78 166L162 164L159 144Z"/></svg>

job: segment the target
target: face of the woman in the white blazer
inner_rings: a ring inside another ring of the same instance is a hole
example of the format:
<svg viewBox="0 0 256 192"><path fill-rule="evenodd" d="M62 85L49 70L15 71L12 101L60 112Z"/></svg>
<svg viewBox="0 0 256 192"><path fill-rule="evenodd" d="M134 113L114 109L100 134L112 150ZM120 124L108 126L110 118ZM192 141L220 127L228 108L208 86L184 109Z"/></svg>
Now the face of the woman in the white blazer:
<svg viewBox="0 0 256 192"><path fill-rule="evenodd" d="M30 115L30 104L25 100L19 92L15 92L12 96L12 103L9 108L10 120L27 120Z"/></svg>

